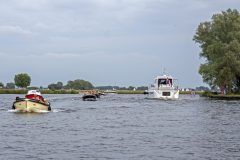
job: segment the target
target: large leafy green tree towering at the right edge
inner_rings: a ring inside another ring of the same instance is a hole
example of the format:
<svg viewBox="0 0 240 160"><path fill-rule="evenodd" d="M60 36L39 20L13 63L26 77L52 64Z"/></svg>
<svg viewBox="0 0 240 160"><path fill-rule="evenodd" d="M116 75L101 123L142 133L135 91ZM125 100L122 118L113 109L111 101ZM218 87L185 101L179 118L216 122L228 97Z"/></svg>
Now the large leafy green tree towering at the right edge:
<svg viewBox="0 0 240 160"><path fill-rule="evenodd" d="M240 89L240 14L228 9L212 16L197 28L193 40L200 44L206 60L199 73L211 87L224 93Z"/></svg>

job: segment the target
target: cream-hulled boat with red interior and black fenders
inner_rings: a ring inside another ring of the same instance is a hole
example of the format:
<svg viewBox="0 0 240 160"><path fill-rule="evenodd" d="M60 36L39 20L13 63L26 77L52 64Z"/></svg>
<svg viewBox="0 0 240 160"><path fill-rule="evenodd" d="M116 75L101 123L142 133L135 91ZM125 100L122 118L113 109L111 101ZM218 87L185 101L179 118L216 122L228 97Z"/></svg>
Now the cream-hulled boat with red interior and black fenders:
<svg viewBox="0 0 240 160"><path fill-rule="evenodd" d="M28 91L25 98L16 97L12 109L19 112L44 112L51 111L50 103L47 102L39 91Z"/></svg>

